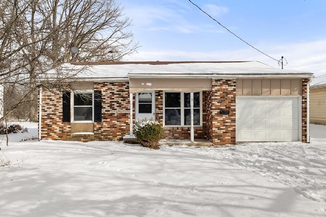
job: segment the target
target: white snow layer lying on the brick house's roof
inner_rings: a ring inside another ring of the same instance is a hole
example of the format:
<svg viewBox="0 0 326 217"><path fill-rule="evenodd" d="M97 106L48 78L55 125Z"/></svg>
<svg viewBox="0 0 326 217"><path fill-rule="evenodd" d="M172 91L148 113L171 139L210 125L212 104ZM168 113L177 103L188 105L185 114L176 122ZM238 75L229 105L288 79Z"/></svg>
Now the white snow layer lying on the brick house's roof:
<svg viewBox="0 0 326 217"><path fill-rule="evenodd" d="M67 64L65 67L70 67L73 70L82 69L81 65ZM139 63L110 63L103 65L92 65L89 68L92 72L80 74L80 78L125 78L138 77L141 75L151 76L173 76L173 75L305 75L312 76L310 72L284 70L265 65L261 62L189 62L189 63L173 63L169 64L149 64L148 62Z"/></svg>

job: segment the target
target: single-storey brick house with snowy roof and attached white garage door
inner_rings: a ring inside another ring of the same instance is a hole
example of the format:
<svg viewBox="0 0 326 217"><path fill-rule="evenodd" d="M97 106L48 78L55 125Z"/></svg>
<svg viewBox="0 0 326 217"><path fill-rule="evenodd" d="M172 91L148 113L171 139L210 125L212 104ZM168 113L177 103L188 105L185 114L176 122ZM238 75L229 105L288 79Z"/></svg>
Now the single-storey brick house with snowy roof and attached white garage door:
<svg viewBox="0 0 326 217"><path fill-rule="evenodd" d="M74 91L40 90L39 139L122 141L135 120L153 118L167 140L309 143L312 73L260 62L89 65Z"/></svg>

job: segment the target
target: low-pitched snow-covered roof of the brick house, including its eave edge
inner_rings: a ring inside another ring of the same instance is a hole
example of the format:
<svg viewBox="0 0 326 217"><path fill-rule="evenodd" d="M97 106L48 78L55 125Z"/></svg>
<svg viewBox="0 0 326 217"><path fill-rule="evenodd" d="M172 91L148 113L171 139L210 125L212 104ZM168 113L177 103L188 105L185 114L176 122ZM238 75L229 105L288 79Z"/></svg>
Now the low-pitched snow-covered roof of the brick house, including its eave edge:
<svg viewBox="0 0 326 217"><path fill-rule="evenodd" d="M71 64L70 64L71 65ZM73 68L91 66L92 74L80 78L150 77L312 77L313 73L274 68L261 62L97 62L76 63Z"/></svg>

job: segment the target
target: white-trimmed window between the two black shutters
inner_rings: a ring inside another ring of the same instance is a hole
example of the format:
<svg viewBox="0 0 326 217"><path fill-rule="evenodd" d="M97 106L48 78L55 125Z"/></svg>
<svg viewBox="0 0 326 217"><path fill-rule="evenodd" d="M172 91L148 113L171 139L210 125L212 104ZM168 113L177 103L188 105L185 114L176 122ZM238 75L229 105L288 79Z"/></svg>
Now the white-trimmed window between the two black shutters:
<svg viewBox="0 0 326 217"><path fill-rule="evenodd" d="M83 91L73 93L72 121L94 122L94 92Z"/></svg>

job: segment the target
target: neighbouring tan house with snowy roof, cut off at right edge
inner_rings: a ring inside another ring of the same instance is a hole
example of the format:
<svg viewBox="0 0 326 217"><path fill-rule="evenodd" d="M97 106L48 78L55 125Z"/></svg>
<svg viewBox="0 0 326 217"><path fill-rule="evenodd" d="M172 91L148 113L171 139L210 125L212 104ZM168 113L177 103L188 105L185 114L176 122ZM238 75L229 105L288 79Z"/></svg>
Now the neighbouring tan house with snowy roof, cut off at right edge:
<svg viewBox="0 0 326 217"><path fill-rule="evenodd" d="M310 123L326 125L326 76L314 77L310 88Z"/></svg>

